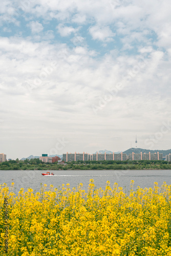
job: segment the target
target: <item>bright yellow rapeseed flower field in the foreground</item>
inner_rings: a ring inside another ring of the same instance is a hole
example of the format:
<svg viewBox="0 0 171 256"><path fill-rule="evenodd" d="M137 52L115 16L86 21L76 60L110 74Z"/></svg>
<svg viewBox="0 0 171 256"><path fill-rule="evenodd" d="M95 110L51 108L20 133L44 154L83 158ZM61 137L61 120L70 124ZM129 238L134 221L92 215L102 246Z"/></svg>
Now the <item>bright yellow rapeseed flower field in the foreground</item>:
<svg viewBox="0 0 171 256"><path fill-rule="evenodd" d="M0 186L0 255L171 255L171 185L133 190L117 183L88 190L62 184L18 196ZM8 252L5 252L4 199L8 198Z"/></svg>

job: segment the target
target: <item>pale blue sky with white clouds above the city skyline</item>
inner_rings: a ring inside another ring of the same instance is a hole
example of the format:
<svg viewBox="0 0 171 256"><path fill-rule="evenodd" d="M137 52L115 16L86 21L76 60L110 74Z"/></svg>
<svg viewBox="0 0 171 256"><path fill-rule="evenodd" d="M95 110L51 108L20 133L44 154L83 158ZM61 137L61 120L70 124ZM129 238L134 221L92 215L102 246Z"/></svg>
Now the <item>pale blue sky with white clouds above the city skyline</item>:
<svg viewBox="0 0 171 256"><path fill-rule="evenodd" d="M171 148L170 1L6 0L0 153Z"/></svg>

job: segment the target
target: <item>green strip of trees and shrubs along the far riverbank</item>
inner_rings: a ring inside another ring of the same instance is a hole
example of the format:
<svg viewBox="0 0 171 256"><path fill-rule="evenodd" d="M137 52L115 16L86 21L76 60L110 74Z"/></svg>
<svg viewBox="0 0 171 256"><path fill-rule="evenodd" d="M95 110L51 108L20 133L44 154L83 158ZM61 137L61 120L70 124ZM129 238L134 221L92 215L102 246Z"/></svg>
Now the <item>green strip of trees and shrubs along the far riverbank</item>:
<svg viewBox="0 0 171 256"><path fill-rule="evenodd" d="M65 164L44 163L37 158L26 160L10 160L0 163L0 170L146 170L171 169L171 163L164 160L140 161L72 161Z"/></svg>

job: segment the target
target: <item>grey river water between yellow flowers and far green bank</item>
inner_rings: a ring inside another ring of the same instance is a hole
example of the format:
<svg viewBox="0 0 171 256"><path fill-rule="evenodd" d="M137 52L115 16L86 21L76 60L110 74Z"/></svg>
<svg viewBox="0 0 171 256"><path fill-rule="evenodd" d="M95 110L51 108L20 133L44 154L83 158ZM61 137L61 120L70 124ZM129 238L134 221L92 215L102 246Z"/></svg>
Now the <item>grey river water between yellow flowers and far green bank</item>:
<svg viewBox="0 0 171 256"><path fill-rule="evenodd" d="M25 191L31 187L34 191L39 191L41 184L51 184L59 187L62 184L70 183L70 188L83 184L83 189L87 190L90 179L94 180L97 188L105 188L106 181L110 181L111 187L115 182L118 186L126 190L130 189L130 181L134 180L134 189L137 186L153 187L154 182L161 186L165 181L171 184L171 170L53 170L55 176L42 176L47 170L0 170L0 184L7 183L10 187L14 182L15 193L21 187ZM40 184L41 183L41 184Z"/></svg>

